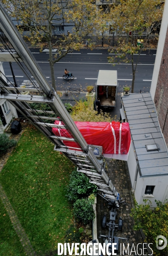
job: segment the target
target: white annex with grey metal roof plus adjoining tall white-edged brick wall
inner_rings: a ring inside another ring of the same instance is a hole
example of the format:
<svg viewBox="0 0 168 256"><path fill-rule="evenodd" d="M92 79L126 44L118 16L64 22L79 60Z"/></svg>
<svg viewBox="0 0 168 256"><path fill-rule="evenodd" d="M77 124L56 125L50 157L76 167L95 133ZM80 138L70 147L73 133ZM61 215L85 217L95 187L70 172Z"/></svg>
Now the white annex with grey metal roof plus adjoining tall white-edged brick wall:
<svg viewBox="0 0 168 256"><path fill-rule="evenodd" d="M160 29L150 93L122 97L132 143L128 156L132 192L143 199L168 200L168 0Z"/></svg>

